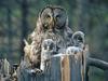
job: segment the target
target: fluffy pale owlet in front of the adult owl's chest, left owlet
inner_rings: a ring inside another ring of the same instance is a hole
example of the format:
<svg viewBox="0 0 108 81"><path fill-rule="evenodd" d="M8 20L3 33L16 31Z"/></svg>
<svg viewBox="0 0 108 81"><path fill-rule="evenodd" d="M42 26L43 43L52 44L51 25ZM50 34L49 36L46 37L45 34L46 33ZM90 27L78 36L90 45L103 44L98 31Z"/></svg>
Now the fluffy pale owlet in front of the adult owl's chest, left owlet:
<svg viewBox="0 0 108 81"><path fill-rule="evenodd" d="M40 69L44 72L45 70L48 70L50 65L50 59L56 51L56 44L52 39L46 39L42 42L41 49L42 50L41 50Z"/></svg>

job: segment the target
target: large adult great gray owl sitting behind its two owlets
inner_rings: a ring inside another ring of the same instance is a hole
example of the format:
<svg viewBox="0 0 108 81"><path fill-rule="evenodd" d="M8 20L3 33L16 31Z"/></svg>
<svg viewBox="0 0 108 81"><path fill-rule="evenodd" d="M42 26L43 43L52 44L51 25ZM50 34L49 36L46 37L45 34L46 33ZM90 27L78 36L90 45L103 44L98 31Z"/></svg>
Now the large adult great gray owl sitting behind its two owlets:
<svg viewBox="0 0 108 81"><path fill-rule="evenodd" d="M45 6L39 14L36 29L30 35L32 55L28 55L29 62L35 67L40 68L41 45L45 39L52 39L56 44L57 51L72 45L72 30L68 27L68 16L60 6ZM30 48L29 46L29 48Z"/></svg>

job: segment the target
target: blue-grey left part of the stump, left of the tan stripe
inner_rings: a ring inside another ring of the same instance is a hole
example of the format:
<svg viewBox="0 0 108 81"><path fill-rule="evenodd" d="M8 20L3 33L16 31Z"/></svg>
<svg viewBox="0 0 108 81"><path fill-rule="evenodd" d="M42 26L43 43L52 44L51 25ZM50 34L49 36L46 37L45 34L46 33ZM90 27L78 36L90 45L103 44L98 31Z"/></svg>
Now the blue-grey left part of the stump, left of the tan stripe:
<svg viewBox="0 0 108 81"><path fill-rule="evenodd" d="M18 81L60 81L60 57L52 58L49 69L44 73L32 75L31 69L22 69Z"/></svg>

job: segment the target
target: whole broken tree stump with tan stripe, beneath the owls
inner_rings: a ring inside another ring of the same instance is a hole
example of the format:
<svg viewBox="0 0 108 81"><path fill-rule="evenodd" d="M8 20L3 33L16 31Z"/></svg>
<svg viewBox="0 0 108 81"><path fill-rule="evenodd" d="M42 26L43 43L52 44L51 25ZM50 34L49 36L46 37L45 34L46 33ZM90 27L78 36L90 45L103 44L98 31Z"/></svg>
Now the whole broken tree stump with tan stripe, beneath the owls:
<svg viewBox="0 0 108 81"><path fill-rule="evenodd" d="M31 69L19 70L18 81L85 81L86 50L77 54L63 55L50 59L44 73L29 73Z"/></svg>

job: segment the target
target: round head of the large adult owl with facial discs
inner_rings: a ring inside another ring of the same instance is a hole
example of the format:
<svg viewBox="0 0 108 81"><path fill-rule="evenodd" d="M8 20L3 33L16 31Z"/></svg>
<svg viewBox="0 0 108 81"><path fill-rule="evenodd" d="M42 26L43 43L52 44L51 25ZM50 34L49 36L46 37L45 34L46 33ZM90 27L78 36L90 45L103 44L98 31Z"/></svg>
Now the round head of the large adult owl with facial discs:
<svg viewBox="0 0 108 81"><path fill-rule="evenodd" d="M60 6L49 5L45 6L39 14L37 22L38 29L41 30L60 30L68 25L67 13Z"/></svg>

